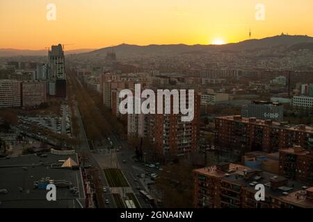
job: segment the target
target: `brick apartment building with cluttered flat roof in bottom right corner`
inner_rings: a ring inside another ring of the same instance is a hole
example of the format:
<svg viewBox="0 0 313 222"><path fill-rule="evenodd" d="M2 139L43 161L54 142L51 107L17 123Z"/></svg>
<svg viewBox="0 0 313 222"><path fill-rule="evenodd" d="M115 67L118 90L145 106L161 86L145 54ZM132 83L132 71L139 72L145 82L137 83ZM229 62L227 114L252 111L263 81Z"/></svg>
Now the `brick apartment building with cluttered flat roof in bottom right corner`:
<svg viewBox="0 0 313 222"><path fill-rule="evenodd" d="M194 171L194 206L198 208L312 208L313 187L239 164L220 163ZM255 185L265 200L255 200Z"/></svg>

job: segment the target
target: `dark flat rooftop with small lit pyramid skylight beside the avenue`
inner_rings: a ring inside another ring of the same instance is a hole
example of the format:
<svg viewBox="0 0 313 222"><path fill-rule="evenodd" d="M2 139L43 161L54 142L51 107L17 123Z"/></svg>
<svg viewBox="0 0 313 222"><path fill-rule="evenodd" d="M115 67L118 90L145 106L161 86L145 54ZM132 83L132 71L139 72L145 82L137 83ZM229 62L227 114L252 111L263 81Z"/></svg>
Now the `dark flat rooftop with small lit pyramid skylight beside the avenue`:
<svg viewBox="0 0 313 222"><path fill-rule="evenodd" d="M0 207L82 208L85 193L77 153L21 155L0 159ZM46 198L56 185L56 201Z"/></svg>

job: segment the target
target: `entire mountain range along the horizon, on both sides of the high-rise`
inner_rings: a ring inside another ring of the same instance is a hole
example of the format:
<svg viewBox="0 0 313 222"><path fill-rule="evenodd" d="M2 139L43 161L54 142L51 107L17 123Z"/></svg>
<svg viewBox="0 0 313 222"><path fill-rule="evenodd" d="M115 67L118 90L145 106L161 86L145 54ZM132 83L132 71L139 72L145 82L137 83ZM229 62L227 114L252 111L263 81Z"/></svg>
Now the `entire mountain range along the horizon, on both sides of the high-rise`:
<svg viewBox="0 0 313 222"><path fill-rule="evenodd" d="M275 35L265 37L259 40L245 40L243 42L213 45L213 44L150 44L147 46L138 46L134 44L120 44L102 49L77 49L65 51L65 54L81 53L85 56L97 55L105 56L110 51L115 51L120 55L149 55L149 54L177 54L177 53L206 53L208 51L244 51L257 49L271 49L273 47L285 46L288 50L309 49L313 51L313 37L307 35ZM18 49L0 49L0 56L46 56L46 50L18 50Z"/></svg>

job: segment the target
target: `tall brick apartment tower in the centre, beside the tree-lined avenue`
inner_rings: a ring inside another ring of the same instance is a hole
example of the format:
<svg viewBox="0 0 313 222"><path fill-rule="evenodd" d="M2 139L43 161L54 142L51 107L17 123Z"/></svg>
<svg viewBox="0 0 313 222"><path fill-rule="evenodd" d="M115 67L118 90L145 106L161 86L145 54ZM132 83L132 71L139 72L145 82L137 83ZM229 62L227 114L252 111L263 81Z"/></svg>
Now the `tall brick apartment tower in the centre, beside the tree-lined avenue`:
<svg viewBox="0 0 313 222"><path fill-rule="evenodd" d="M188 107L188 98L186 102ZM154 144L154 154L157 157L185 156L198 147L200 133L200 95L198 94L194 97L193 115L192 121L184 122L181 113L128 114L127 134L129 138L149 139Z"/></svg>

